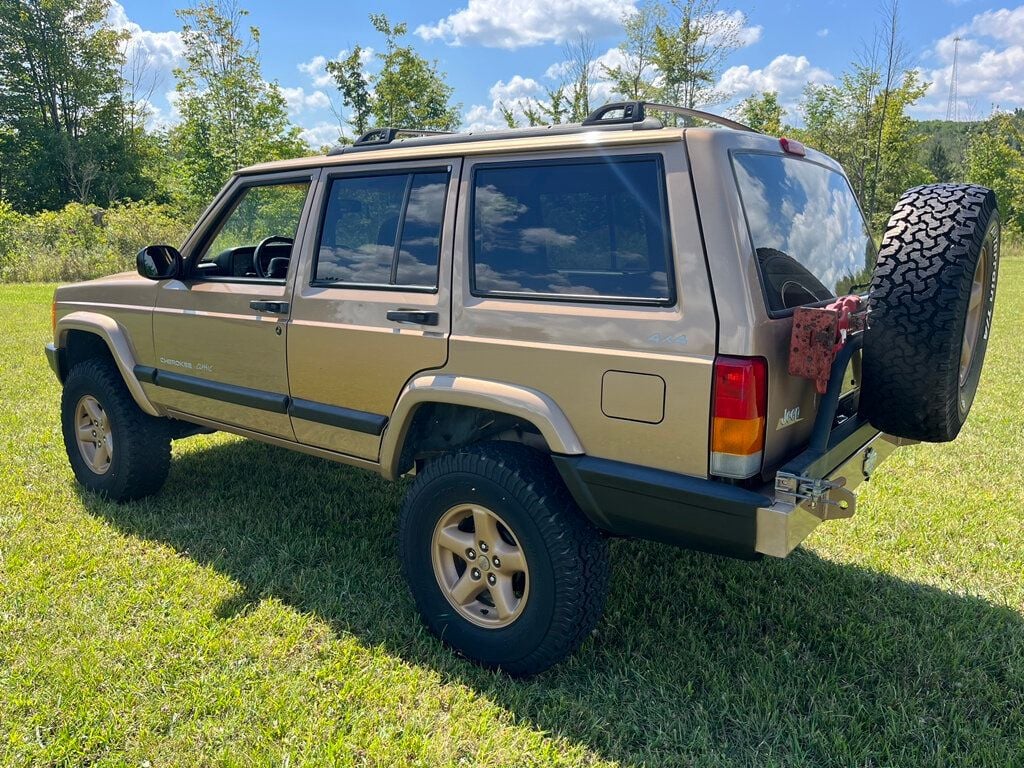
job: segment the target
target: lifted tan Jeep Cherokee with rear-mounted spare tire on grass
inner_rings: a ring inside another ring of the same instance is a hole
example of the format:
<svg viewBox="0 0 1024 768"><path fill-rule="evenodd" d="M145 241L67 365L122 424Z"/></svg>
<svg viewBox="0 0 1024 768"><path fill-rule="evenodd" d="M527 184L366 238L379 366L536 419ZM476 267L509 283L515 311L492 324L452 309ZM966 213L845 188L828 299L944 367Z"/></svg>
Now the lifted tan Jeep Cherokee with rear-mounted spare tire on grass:
<svg viewBox="0 0 1024 768"><path fill-rule="evenodd" d="M76 477L154 494L210 430L415 473L419 609L518 675L594 629L608 535L784 557L853 514L896 444L967 418L994 197L910 190L877 252L829 158L655 109L693 116L379 130L239 171L180 253L57 289Z"/></svg>

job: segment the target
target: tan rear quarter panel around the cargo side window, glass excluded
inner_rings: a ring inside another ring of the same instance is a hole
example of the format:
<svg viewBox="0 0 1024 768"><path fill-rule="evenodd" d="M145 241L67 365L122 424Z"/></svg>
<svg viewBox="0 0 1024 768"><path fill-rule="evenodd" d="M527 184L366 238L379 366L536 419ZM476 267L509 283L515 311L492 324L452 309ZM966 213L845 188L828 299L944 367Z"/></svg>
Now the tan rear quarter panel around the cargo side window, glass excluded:
<svg viewBox="0 0 1024 768"><path fill-rule="evenodd" d="M516 158L467 160L456 230L453 331L445 372L546 393L565 413L588 455L705 477L716 319L684 144L676 140L592 152L663 157L675 253L675 306L473 296L469 273L473 169L480 163ZM581 155L545 153L529 160ZM633 389L631 375L637 375ZM624 409L620 416L648 421L606 415L602 390L605 408L612 403ZM651 401L624 403L630 391ZM657 423L649 423L659 392L664 392L664 415Z"/></svg>

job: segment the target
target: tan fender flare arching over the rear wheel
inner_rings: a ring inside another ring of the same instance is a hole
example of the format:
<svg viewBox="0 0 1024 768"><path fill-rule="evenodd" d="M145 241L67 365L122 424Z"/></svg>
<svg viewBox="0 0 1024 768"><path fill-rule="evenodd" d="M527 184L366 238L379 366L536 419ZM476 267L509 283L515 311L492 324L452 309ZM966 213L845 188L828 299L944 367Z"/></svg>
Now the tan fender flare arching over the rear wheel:
<svg viewBox="0 0 1024 768"><path fill-rule="evenodd" d="M552 453L577 456L583 444L554 400L536 389L451 374L417 376L401 391L381 444L381 474L397 478L398 460L416 409L426 402L497 411L528 421Z"/></svg>

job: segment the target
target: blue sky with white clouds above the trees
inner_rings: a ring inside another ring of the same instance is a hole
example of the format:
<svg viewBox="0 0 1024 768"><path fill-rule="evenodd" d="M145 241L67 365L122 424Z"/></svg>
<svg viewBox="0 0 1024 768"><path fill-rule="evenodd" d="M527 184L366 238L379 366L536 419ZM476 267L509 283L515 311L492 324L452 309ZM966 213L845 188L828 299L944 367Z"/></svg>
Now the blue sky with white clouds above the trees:
<svg viewBox="0 0 1024 768"><path fill-rule="evenodd" d="M181 51L174 8L184 4L153 0L115 2L111 18L132 35L133 55L148 63L155 82L150 100L154 120L173 122L168 94ZM368 6L327 0L242 0L249 20L262 33L263 73L282 86L293 122L314 144L338 135L337 90L324 62L355 44L377 48L379 35L367 17L382 11L404 20L410 40L436 58L462 103L464 125L497 127L497 103L543 96L557 85L566 39L586 32L602 61L614 62L622 40L621 19L633 0L418 0ZM808 82L838 77L869 43L881 22L871 0L791 0L779 3L721 3L742 14L745 45L726 62L723 91L741 98L777 90L791 112ZM961 119L983 117L994 106L1024 106L1024 5L983 0L903 0L902 33L912 66L933 83L914 111L919 118L946 114L953 37L959 45L957 112ZM607 88L597 84L597 100ZM728 103L719 105L727 109ZM796 115L788 116L798 119Z"/></svg>

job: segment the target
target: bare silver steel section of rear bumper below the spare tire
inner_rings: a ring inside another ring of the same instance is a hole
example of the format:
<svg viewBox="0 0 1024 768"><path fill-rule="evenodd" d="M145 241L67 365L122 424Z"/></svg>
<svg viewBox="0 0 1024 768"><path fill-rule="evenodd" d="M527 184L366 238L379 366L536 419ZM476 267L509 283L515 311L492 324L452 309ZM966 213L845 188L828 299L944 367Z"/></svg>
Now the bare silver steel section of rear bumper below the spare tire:
<svg viewBox="0 0 1024 768"><path fill-rule="evenodd" d="M874 430L868 427L865 431ZM859 435L853 441L859 442ZM792 471L796 467L787 465L775 476L774 502L757 510L755 550L763 555L785 557L824 520L852 517L857 505L853 493L856 487L869 480L896 447L908 442L874 431L873 436L823 476L798 474ZM830 463L827 457L822 459Z"/></svg>

